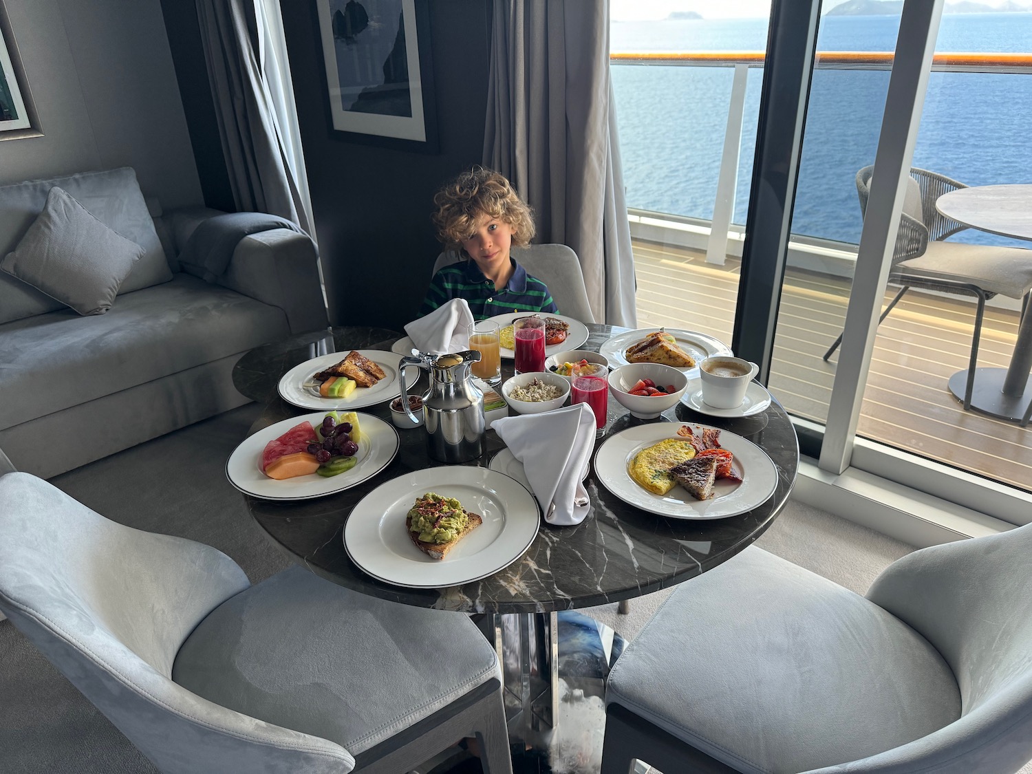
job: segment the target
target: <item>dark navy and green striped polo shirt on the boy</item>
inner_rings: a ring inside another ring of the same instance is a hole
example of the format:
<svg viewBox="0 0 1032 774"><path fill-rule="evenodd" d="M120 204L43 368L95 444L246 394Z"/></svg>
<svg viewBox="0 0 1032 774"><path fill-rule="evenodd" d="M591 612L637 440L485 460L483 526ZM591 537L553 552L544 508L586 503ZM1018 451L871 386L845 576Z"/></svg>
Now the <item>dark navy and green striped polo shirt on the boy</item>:
<svg viewBox="0 0 1032 774"><path fill-rule="evenodd" d="M484 277L475 261L464 260L445 266L430 281L419 316L427 315L452 298L465 298L474 320L485 320L511 312L558 312L548 286L526 272L514 258L513 276L502 290Z"/></svg>

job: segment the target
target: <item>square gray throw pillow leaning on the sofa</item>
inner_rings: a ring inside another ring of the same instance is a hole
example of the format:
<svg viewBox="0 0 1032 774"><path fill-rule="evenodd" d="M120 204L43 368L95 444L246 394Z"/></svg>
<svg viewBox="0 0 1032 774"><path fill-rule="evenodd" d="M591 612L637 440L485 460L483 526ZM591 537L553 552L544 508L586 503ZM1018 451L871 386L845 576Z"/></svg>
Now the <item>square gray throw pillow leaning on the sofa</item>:
<svg viewBox="0 0 1032 774"><path fill-rule="evenodd" d="M141 255L143 248L55 186L43 212L0 268L80 315L102 315Z"/></svg>

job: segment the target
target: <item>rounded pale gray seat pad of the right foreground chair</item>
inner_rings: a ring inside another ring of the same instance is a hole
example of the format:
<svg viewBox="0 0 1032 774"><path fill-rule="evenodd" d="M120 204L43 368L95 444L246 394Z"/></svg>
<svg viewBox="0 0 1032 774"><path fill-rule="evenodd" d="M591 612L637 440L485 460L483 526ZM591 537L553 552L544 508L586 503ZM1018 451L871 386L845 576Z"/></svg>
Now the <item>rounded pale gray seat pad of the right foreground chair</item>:
<svg viewBox="0 0 1032 774"><path fill-rule="evenodd" d="M606 701L754 774L856 761L961 714L925 638L754 547L678 586L616 663Z"/></svg>

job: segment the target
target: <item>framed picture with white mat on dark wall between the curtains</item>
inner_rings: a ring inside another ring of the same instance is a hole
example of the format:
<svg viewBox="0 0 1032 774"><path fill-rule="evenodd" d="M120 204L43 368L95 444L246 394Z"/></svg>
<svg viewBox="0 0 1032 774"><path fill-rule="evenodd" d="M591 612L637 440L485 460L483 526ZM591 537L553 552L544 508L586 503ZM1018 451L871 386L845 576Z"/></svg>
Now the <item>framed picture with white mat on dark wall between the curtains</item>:
<svg viewBox="0 0 1032 774"><path fill-rule="evenodd" d="M437 152L427 0L316 0L330 125L342 138Z"/></svg>

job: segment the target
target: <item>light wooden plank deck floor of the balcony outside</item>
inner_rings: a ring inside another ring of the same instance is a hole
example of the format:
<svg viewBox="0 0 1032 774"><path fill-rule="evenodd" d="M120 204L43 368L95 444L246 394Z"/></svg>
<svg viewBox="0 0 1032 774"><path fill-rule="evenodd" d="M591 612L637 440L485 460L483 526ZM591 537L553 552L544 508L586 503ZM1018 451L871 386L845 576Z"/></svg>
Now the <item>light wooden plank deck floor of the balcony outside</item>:
<svg viewBox="0 0 1032 774"><path fill-rule="evenodd" d="M701 330L731 342L739 262L636 240L638 323ZM886 293L888 303L897 288ZM774 340L771 391L799 417L824 423L842 330L846 280L789 269ZM990 479L1032 490L1032 425L964 411L946 387L967 366L974 304L911 290L878 327L858 432ZM1006 367L1018 313L987 309L978 364Z"/></svg>

